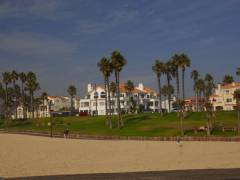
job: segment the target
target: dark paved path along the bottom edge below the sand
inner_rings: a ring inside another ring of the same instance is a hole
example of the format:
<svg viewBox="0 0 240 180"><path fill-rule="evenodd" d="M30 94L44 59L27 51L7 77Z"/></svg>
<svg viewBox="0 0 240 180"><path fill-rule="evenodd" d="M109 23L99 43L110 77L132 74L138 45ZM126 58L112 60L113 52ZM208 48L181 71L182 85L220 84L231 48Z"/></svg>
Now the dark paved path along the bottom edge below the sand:
<svg viewBox="0 0 240 180"><path fill-rule="evenodd" d="M182 170L159 172L130 172L106 174L81 174L13 178L12 180L240 180L240 169Z"/></svg>

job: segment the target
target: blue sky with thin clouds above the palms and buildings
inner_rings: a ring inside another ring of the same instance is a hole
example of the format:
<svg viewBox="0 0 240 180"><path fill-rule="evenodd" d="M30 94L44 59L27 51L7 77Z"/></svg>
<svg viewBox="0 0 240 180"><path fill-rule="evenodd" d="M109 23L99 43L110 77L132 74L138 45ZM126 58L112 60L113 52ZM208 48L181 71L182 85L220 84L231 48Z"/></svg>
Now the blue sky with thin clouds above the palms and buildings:
<svg viewBox="0 0 240 180"><path fill-rule="evenodd" d="M216 82L236 78L240 0L0 0L1 74L33 71L40 91L67 95L74 84L81 96L88 83L103 83L96 64L114 50L127 60L122 82L154 89L154 61L186 53L191 96L193 69Z"/></svg>

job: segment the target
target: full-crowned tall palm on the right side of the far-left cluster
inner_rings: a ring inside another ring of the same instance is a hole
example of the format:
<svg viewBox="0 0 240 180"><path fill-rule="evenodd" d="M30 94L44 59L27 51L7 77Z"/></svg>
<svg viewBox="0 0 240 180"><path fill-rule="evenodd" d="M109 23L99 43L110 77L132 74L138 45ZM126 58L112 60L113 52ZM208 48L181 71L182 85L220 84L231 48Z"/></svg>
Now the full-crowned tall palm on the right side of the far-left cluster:
<svg viewBox="0 0 240 180"><path fill-rule="evenodd" d="M32 113L32 118L34 118L34 92L40 89L39 83L37 82L36 74L33 72L28 72L26 76L26 89L30 96L30 112Z"/></svg>

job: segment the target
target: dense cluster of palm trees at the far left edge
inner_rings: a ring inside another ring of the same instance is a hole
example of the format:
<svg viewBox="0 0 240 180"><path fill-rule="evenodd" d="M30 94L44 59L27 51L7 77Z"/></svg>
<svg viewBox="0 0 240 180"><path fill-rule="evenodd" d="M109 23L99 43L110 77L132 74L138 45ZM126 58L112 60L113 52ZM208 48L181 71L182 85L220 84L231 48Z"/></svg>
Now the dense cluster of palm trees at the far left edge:
<svg viewBox="0 0 240 180"><path fill-rule="evenodd" d="M33 72L18 73L13 70L2 73L0 96L3 100L5 118L10 118L12 111L16 118L18 106L23 108L23 118L27 118L27 111L31 112L34 118L34 110L39 108L46 96L46 93L42 93L41 97L35 98L35 93L39 89L40 84Z"/></svg>

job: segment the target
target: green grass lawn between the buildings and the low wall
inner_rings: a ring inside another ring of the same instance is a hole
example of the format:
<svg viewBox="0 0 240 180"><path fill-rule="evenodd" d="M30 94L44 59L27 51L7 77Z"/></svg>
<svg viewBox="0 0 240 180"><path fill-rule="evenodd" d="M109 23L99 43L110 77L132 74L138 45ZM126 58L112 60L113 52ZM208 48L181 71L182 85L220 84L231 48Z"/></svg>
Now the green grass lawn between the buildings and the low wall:
<svg viewBox="0 0 240 180"><path fill-rule="evenodd" d="M121 136L177 136L179 131L179 119L176 113L171 113L161 117L159 114L146 113L139 115L124 115L125 126L122 129L116 127L117 117L114 117L113 129L105 125L105 117L55 117L53 118L54 132L63 132L68 127L70 133L80 133L83 135L121 135ZM49 131L49 118L34 120L12 120L9 122L10 130L34 130ZM216 117L212 119L216 127L236 127L237 112L222 111L216 112ZM4 121L0 120L0 129L4 127ZM185 135L187 136L205 136L205 132L193 132L194 128L206 125L204 112L188 113L184 119ZM221 128L215 128L213 135L216 136L234 136L235 132L222 132Z"/></svg>

